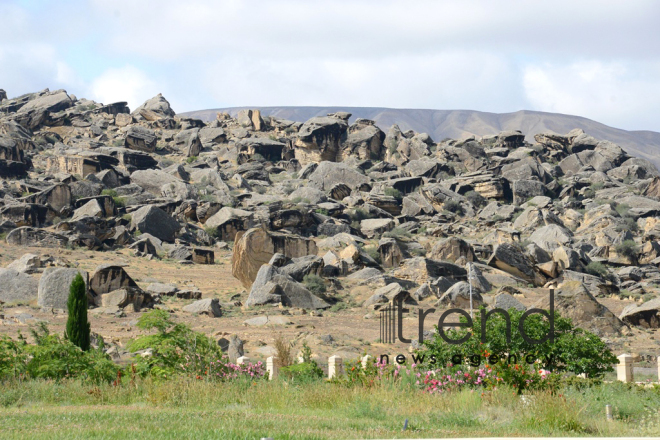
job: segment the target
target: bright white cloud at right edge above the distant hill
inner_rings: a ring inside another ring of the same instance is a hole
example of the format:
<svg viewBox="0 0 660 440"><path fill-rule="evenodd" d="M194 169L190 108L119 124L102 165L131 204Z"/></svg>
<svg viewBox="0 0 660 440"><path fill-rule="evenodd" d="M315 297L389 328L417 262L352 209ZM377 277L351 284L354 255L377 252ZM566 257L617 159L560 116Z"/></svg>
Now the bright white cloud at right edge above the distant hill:
<svg viewBox="0 0 660 440"><path fill-rule="evenodd" d="M523 86L533 110L582 115L628 129L658 128L660 62L530 65Z"/></svg>

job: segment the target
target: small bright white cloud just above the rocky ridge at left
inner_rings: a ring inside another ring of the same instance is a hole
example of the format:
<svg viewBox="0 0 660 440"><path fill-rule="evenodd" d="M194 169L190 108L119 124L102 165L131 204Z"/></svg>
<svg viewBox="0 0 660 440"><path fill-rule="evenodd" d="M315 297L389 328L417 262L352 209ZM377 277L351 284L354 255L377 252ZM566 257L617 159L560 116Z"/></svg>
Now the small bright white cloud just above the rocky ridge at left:
<svg viewBox="0 0 660 440"><path fill-rule="evenodd" d="M134 66L108 69L89 86L90 99L104 104L126 101L135 109L157 95L158 86L147 74Z"/></svg>

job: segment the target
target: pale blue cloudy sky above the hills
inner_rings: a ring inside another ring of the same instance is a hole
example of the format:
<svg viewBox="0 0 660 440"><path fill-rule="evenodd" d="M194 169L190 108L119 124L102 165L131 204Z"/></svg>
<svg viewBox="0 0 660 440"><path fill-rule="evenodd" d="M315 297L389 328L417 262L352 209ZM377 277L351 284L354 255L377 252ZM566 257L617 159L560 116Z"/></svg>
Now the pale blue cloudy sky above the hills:
<svg viewBox="0 0 660 440"><path fill-rule="evenodd" d="M135 108L538 110L660 131L655 0L0 0L0 88Z"/></svg>

